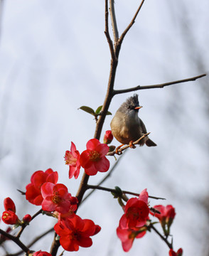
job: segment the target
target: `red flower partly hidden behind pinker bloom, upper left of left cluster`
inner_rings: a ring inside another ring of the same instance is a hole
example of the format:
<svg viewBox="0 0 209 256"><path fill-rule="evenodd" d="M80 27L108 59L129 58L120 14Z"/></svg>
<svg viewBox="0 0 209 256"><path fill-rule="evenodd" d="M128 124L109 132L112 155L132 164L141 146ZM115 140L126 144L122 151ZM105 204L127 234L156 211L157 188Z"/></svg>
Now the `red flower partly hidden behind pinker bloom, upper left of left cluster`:
<svg viewBox="0 0 209 256"><path fill-rule="evenodd" d="M58 182L58 172L48 169L44 171L36 171L31 176L31 183L26 186L26 199L36 206L41 206L43 197L41 196L41 186L45 182L56 184Z"/></svg>

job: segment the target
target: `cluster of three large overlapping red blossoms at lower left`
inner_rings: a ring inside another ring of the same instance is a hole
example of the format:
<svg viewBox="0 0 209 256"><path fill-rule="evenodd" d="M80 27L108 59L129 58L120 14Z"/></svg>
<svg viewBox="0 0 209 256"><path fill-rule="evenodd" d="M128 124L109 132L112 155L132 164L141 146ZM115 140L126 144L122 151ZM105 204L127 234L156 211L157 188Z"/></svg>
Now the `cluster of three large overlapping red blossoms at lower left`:
<svg viewBox="0 0 209 256"><path fill-rule="evenodd" d="M75 214L77 198L71 196L64 184L57 182L56 171L36 171L31 176L31 183L26 186L26 199L34 205L41 205L42 210L58 218L54 229L60 236L60 245L65 250L77 251L79 246L90 247L90 236L96 235L101 229L100 226L95 225L92 220L82 220ZM48 252L38 251L36 254L48 256Z"/></svg>

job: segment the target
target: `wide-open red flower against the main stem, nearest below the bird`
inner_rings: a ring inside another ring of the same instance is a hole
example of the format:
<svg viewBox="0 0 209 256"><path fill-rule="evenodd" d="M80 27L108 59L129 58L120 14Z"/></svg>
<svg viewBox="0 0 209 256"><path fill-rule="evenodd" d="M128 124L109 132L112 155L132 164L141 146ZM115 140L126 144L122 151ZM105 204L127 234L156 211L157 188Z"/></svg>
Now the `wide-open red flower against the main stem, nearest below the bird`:
<svg viewBox="0 0 209 256"><path fill-rule="evenodd" d="M97 171L109 169L109 160L105 157L109 146L101 144L98 139L90 139L86 144L87 150L80 155L80 165L87 175L95 175Z"/></svg>

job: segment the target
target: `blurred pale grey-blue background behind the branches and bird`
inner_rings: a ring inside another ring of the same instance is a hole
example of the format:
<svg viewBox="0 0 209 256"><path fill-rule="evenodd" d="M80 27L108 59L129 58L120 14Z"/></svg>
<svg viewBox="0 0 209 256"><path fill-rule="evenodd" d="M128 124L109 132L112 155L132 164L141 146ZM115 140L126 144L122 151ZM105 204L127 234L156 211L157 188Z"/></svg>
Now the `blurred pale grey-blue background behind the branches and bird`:
<svg viewBox="0 0 209 256"><path fill-rule="evenodd" d="M95 133L95 120L78 110L96 109L107 90L110 54L104 36L104 1L0 1L0 211L11 197L17 214L36 213L16 189L25 191L33 172L52 168L75 196L80 177L68 179L63 156L73 141L79 151ZM140 1L117 1L119 33L129 24ZM145 1L119 55L115 89L153 85L208 72L209 2ZM109 22L110 23L110 22ZM109 28L112 31L111 28ZM139 115L158 144L129 149L103 186L166 198L150 205L172 204L174 250L209 255L208 77L164 89L141 90ZM113 98L114 114L127 95ZM105 119L102 137L110 129ZM102 142L101 137L101 142ZM112 142L119 145L115 139ZM117 157L119 159L119 156ZM109 157L112 166L113 157ZM90 177L97 184L105 174ZM166 256L168 247L154 233L134 241L123 252L116 228L122 209L112 195L97 191L77 212L102 227L90 248L64 255ZM52 218L39 215L23 233L26 245L48 230ZM156 225L161 230L160 225ZM6 229L4 223L0 228ZM31 250L50 250L53 233ZM18 252L13 242L0 247ZM59 253L63 249L60 247Z"/></svg>

